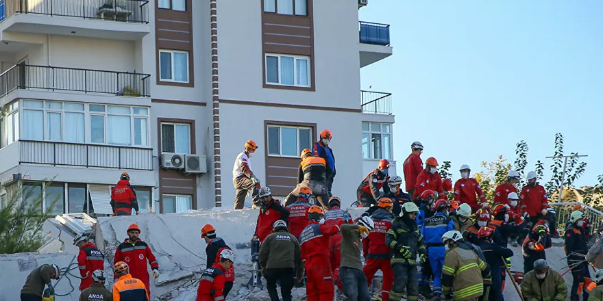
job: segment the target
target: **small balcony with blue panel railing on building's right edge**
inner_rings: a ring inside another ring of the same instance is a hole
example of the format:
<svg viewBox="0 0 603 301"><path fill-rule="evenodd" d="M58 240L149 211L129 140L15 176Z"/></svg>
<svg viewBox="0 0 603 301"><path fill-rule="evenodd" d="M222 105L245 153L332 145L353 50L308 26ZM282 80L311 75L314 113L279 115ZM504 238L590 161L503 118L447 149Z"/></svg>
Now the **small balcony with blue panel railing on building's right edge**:
<svg viewBox="0 0 603 301"><path fill-rule="evenodd" d="M360 21L360 67L383 60L392 54L389 25Z"/></svg>

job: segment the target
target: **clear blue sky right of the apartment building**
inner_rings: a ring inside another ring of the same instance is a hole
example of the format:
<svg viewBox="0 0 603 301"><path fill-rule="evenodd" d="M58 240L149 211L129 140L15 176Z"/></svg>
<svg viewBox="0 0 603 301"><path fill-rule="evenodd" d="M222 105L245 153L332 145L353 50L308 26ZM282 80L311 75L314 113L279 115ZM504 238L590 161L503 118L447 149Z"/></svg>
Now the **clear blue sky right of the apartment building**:
<svg viewBox="0 0 603 301"><path fill-rule="evenodd" d="M455 180L463 163L513 163L520 140L532 170L561 132L566 154L589 155L576 185L603 174L603 1L369 0L359 14L391 25L393 55L360 75L393 93L400 172L415 140Z"/></svg>

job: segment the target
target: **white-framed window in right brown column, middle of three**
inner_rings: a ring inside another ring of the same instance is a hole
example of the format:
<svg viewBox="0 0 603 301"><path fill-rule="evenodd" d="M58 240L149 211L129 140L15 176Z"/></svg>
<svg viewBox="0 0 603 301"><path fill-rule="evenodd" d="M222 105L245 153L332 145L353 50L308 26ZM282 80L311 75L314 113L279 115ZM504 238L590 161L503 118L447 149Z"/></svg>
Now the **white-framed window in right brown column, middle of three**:
<svg viewBox="0 0 603 301"><path fill-rule="evenodd" d="M266 55L266 83L310 87L310 57Z"/></svg>

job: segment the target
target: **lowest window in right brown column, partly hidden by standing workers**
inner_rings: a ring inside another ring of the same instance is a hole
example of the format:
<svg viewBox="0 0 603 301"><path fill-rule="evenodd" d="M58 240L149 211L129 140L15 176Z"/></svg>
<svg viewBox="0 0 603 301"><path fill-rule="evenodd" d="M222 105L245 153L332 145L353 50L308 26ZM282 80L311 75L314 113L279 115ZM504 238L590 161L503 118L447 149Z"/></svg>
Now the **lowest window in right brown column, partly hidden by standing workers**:
<svg viewBox="0 0 603 301"><path fill-rule="evenodd" d="M312 146L309 127L268 126L268 155L299 157L304 148Z"/></svg>

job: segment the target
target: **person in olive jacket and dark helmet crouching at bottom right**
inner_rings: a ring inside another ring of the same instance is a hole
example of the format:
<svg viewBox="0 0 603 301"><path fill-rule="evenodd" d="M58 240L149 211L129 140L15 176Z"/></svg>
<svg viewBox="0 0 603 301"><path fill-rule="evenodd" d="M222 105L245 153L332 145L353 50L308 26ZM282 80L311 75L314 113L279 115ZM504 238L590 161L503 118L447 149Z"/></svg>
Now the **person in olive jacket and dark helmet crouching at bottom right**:
<svg viewBox="0 0 603 301"><path fill-rule="evenodd" d="M567 286L563 277L551 270L545 259L534 261L531 271L524 274L521 281L521 295L524 300L565 301Z"/></svg>

